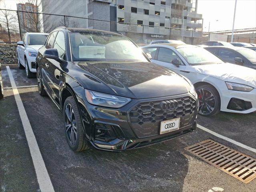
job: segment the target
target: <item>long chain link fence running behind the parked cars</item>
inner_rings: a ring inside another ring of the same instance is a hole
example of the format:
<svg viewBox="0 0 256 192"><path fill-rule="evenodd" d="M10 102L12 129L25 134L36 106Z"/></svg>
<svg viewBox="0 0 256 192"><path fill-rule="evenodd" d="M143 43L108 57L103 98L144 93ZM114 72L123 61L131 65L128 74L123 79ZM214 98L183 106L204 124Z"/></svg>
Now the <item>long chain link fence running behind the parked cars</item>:
<svg viewBox="0 0 256 192"><path fill-rule="evenodd" d="M182 40L187 44L198 44L210 40L208 32L191 29L0 9L0 42L17 42L26 32L49 33L60 26L119 32L137 44L148 44L152 40L161 39ZM212 33L210 34L212 36ZM230 35L226 35L224 41L230 42L230 38ZM239 38L234 35L234 41L241 42L241 40L256 43L256 38Z"/></svg>

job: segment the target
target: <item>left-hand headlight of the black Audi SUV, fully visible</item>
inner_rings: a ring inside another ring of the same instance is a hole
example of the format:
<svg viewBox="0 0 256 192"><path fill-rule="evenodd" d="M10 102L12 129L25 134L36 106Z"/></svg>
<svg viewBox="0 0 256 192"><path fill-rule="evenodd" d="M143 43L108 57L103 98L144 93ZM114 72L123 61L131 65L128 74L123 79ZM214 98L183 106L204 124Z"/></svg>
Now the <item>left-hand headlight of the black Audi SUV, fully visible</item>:
<svg viewBox="0 0 256 192"><path fill-rule="evenodd" d="M120 108L131 101L130 98L120 97L115 95L109 95L105 93L99 93L95 91L85 90L86 99L90 104L110 107L110 108Z"/></svg>

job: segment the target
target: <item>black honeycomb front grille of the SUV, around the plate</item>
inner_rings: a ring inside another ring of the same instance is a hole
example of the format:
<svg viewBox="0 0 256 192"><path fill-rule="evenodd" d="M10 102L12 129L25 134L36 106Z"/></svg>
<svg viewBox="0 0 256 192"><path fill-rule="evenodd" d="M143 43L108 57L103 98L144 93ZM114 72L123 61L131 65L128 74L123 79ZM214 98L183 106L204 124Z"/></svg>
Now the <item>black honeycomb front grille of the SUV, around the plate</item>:
<svg viewBox="0 0 256 192"><path fill-rule="evenodd" d="M162 110L160 103L176 100L178 106ZM195 118L196 100L190 96L141 102L129 112L132 129L138 138L155 136L160 133L160 122L180 117L180 129L192 124Z"/></svg>

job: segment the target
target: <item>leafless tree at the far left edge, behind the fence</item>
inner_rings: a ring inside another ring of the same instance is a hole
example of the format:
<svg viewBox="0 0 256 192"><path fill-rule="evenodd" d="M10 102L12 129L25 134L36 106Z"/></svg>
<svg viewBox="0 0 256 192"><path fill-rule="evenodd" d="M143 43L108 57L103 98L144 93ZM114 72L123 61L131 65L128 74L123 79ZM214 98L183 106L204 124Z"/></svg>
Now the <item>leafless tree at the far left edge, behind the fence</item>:
<svg viewBox="0 0 256 192"><path fill-rule="evenodd" d="M8 9L6 8L5 2L4 2L4 9ZM17 29L16 12L8 11L8 10L0 10L0 16L1 16L0 24L3 28L7 30L8 42L11 42L11 34L16 32L16 29Z"/></svg>

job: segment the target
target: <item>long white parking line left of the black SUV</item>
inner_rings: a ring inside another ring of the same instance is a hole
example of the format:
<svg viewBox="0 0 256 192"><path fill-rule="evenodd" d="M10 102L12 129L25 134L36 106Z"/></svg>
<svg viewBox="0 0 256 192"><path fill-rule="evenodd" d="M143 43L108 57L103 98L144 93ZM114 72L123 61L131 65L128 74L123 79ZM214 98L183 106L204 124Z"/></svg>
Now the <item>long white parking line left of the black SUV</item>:
<svg viewBox="0 0 256 192"><path fill-rule="evenodd" d="M26 135L26 138L28 141L28 147L30 150L34 168L36 170L36 176L37 176L38 184L40 187L40 191L41 192L54 192L52 182L50 180L49 174L45 167L44 160L40 153L34 132L31 128L30 122L28 120L28 116L26 114L25 108L24 108L22 100L20 98L20 94L19 94L16 84L14 82L12 72L11 72L9 66L6 66L6 69L7 69L9 78L10 78L13 94L14 94L14 97L16 100L16 104L18 106L19 113L20 113L20 119L22 121L24 132L25 132L25 135Z"/></svg>

